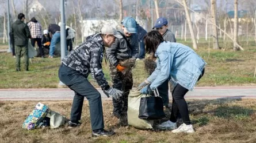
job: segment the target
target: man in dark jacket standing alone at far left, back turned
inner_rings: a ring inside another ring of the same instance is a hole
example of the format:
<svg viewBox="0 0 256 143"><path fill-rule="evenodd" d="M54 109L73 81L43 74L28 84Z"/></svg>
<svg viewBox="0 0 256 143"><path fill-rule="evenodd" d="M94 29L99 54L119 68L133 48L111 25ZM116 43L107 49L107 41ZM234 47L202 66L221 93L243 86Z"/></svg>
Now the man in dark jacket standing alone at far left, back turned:
<svg viewBox="0 0 256 143"><path fill-rule="evenodd" d="M11 35L14 37L16 53L16 71L20 72L20 58L24 56L25 70L28 71L28 38L31 37L28 25L24 23L25 15L18 14L18 20L12 24Z"/></svg>

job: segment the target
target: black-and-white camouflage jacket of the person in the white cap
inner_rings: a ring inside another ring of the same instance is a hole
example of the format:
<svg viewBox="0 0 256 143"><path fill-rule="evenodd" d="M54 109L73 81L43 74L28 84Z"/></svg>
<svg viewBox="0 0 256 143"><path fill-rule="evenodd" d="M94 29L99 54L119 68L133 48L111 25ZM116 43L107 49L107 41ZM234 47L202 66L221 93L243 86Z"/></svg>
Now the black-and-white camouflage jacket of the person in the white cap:
<svg viewBox="0 0 256 143"><path fill-rule="evenodd" d="M90 35L86 42L75 47L63 60L62 63L71 69L77 70L86 78L91 76L97 81L102 89L108 88L108 82L102 71L102 59L104 43L100 34Z"/></svg>

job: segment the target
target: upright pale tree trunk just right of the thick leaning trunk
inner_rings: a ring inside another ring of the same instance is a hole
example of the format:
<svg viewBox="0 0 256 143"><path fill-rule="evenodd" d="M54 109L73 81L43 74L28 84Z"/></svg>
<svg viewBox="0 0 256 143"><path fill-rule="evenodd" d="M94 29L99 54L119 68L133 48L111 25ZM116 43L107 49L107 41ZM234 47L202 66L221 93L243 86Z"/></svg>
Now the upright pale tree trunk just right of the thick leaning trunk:
<svg viewBox="0 0 256 143"><path fill-rule="evenodd" d="M211 15L212 15L212 30L213 30L213 49L220 49L219 47L219 38L218 38L218 31L216 22L216 0L211 0Z"/></svg>

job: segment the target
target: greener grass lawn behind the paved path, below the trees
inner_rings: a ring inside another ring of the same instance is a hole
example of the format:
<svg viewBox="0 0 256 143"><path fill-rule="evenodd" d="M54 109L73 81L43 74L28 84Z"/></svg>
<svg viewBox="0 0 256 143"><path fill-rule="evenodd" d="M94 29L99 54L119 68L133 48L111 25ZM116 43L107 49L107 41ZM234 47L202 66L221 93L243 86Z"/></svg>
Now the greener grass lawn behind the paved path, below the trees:
<svg viewBox="0 0 256 143"><path fill-rule="evenodd" d="M184 42L191 45L191 42ZM221 43L220 43L221 45ZM251 42L244 51L208 49L208 43L198 44L196 51L208 65L205 67L204 77L197 86L256 86L254 70L256 66L256 47ZM57 88L59 84L58 69L60 58L33 58L29 62L29 72L24 72L24 63L21 61L22 72L16 72L15 59L11 53L0 53L0 88ZM105 77L111 84L109 66L103 62ZM137 61L133 69L133 86L147 78L143 61ZM89 76L91 83L97 83Z"/></svg>

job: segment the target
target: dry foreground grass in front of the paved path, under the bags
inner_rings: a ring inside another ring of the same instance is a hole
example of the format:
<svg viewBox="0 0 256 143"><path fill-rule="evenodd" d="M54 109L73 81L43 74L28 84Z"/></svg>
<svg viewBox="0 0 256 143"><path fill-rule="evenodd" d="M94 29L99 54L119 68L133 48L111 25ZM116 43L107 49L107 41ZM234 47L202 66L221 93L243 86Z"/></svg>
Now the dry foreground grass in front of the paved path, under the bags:
<svg viewBox="0 0 256 143"><path fill-rule="evenodd" d="M110 138L91 138L88 102L82 110L82 124L70 129L22 129L22 122L38 101L0 102L0 142L255 142L256 100L222 99L188 101L190 119L196 133L173 134L170 131L139 130L120 126L111 116L111 101L103 101L106 129L117 134ZM51 110L70 118L71 101L43 101ZM169 111L166 110L169 114ZM163 120L166 120L163 119Z"/></svg>

